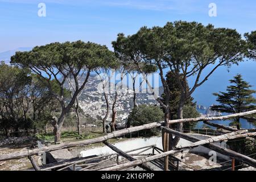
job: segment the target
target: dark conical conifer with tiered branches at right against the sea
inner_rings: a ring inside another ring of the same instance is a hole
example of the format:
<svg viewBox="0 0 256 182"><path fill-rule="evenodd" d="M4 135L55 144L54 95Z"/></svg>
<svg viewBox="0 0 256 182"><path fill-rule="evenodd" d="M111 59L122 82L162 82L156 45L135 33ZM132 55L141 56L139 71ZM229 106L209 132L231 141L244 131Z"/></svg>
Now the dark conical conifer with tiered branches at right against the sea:
<svg viewBox="0 0 256 182"><path fill-rule="evenodd" d="M242 75L237 75L230 80L232 85L228 86L227 92L214 93L217 101L221 105L212 107L212 110L221 111L223 113L241 113L255 109L256 98L253 94L256 90L250 89L252 86L243 80ZM240 130L240 118L236 118L237 129Z"/></svg>

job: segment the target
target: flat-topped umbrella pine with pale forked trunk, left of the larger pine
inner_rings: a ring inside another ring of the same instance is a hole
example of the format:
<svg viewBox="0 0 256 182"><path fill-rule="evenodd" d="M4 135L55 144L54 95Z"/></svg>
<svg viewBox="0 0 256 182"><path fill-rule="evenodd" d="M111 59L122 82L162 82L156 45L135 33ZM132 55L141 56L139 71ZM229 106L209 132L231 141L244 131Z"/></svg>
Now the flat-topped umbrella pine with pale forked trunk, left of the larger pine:
<svg viewBox="0 0 256 182"><path fill-rule="evenodd" d="M115 63L114 53L106 46L95 43L65 42L51 43L35 47L29 52L16 52L11 63L30 70L46 82L49 92L59 101L61 114L57 121L52 122L55 142L60 141L61 128L66 114L72 109L77 96L84 89L90 73L99 67L109 68ZM71 100L65 100L65 83L72 75L75 91ZM79 82L79 76L84 78ZM51 82L57 82L57 92Z"/></svg>

